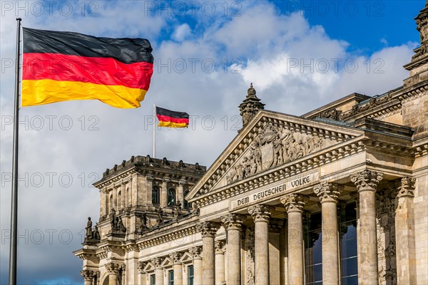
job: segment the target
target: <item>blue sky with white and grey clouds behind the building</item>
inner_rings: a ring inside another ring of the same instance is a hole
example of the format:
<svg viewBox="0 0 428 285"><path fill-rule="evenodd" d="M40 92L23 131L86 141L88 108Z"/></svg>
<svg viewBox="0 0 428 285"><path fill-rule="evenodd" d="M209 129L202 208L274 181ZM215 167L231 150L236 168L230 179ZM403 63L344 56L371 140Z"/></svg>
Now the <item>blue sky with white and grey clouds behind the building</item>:
<svg viewBox="0 0 428 285"><path fill-rule="evenodd" d="M157 130L156 157L210 166L240 128L251 82L267 110L292 115L400 86L424 2L0 1L0 283L9 268L16 16L29 28L153 46L141 108L70 101L20 111L19 284L83 284L71 252L81 248L86 218L99 217L91 184L132 155L152 155L153 103L192 116L186 130Z"/></svg>

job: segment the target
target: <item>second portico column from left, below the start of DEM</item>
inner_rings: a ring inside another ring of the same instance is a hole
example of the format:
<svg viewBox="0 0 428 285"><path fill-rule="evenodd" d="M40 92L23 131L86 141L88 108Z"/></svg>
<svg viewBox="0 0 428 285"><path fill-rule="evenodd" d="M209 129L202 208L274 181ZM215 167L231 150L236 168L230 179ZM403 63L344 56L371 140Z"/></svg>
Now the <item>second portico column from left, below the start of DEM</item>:
<svg viewBox="0 0 428 285"><path fill-rule="evenodd" d="M228 285L241 284L240 240L243 223L246 218L243 214L227 214L221 218L221 222L223 222L226 229L228 242L228 278L226 280Z"/></svg>

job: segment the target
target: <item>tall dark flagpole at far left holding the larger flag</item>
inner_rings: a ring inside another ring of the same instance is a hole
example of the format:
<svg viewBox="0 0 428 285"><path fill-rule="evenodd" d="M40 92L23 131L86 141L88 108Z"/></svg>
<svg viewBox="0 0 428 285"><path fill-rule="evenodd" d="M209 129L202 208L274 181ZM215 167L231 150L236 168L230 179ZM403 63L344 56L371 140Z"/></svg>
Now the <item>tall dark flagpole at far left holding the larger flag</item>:
<svg viewBox="0 0 428 285"><path fill-rule="evenodd" d="M19 126L19 64L21 63L19 40L21 38L21 18L16 18L16 61L15 61L15 108L14 108L14 149L12 156L11 195L11 243L9 249L9 285L16 285L16 252L18 237L18 126Z"/></svg>

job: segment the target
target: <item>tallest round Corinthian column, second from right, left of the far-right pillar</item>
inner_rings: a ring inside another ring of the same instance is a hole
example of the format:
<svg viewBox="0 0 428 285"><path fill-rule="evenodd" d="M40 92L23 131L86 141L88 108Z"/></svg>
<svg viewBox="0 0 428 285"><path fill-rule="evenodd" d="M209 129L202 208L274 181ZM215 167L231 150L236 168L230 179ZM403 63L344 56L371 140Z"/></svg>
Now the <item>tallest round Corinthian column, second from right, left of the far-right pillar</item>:
<svg viewBox="0 0 428 285"><path fill-rule="evenodd" d="M351 181L357 186L360 194L360 232L357 236L360 252L358 266L361 276L360 284L377 284L377 234L376 234L376 192L383 174L363 170L351 175Z"/></svg>

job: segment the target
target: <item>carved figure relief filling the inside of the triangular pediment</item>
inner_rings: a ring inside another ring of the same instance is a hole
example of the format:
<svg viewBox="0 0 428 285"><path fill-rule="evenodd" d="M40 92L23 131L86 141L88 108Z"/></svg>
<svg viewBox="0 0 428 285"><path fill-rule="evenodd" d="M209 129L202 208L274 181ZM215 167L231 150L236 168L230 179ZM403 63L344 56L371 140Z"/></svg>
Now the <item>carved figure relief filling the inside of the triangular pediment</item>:
<svg viewBox="0 0 428 285"><path fill-rule="evenodd" d="M312 152L321 150L327 141L312 135L295 133L284 127L266 125L238 162L231 167L228 184L256 173L282 165Z"/></svg>

